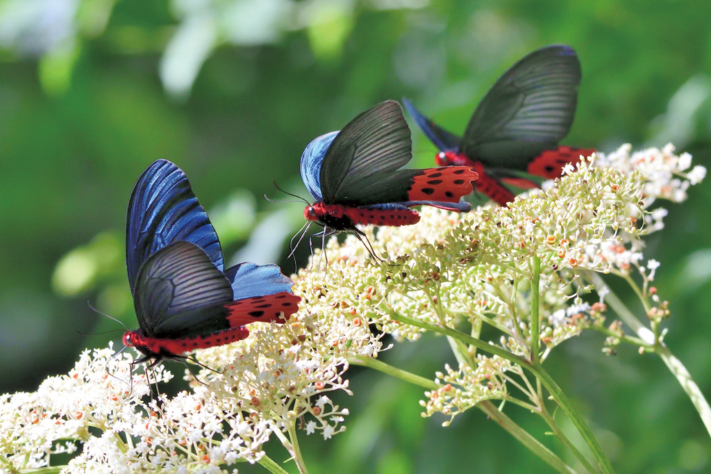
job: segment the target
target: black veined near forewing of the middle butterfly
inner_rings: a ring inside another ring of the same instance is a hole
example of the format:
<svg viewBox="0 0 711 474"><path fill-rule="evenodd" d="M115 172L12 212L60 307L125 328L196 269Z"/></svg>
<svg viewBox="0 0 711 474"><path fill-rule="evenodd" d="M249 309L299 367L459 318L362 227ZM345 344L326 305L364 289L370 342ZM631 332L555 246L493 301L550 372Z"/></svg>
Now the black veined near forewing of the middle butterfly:
<svg viewBox="0 0 711 474"><path fill-rule="evenodd" d="M366 206L402 201L412 172L412 138L395 100L371 107L348 122L321 162L321 195L326 204ZM405 199L406 200L406 199Z"/></svg>

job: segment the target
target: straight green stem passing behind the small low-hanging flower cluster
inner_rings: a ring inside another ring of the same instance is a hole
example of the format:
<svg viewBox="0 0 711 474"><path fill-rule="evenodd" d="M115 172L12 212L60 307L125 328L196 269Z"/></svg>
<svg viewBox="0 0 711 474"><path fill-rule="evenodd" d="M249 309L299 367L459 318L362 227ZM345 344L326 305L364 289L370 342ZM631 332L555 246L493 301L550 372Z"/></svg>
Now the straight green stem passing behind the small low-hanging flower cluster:
<svg viewBox="0 0 711 474"><path fill-rule="evenodd" d="M410 384L421 386L427 390L437 390L439 386L430 379L425 379L422 376L412 374L412 372L407 372L397 367L392 367L390 364L385 364L385 362L380 362L378 359L373 359L373 357L358 356L350 359L348 362L351 364L362 365L364 367L370 367L370 369L375 369L378 372L383 372L383 374L391 375L397 377L400 380L410 382ZM576 474L575 470L569 465L564 463L557 455L552 453L548 448L542 445L540 441L531 436L528 431L518 426L514 421L498 411L496 405L491 401L481 401L476 404L476 408L483 411L489 418L501 426L501 428L508 431L508 433L516 438L523 446L528 448L532 453L541 458L547 465L557 470L562 474Z"/></svg>

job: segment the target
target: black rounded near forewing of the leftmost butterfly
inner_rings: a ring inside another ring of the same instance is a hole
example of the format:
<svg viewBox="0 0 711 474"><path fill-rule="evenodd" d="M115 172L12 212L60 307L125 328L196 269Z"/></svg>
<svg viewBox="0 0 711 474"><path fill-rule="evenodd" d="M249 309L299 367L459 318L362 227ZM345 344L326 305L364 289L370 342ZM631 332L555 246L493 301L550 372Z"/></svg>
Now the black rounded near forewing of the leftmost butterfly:
<svg viewBox="0 0 711 474"><path fill-rule="evenodd" d="M178 241L139 268L134 307L147 337L176 338L228 329L229 280L202 248Z"/></svg>

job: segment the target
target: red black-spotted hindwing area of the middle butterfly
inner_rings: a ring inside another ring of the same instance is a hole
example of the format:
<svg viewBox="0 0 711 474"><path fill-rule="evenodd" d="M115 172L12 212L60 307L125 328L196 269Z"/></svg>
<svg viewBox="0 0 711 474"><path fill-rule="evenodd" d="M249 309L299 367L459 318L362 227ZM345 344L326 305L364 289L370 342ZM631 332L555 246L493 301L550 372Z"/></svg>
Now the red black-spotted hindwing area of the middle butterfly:
<svg viewBox="0 0 711 474"><path fill-rule="evenodd" d="M407 191L407 199L457 203L462 196L471 193L471 181L475 181L478 177L479 175L470 167L423 169L422 174L412 179L412 186Z"/></svg>

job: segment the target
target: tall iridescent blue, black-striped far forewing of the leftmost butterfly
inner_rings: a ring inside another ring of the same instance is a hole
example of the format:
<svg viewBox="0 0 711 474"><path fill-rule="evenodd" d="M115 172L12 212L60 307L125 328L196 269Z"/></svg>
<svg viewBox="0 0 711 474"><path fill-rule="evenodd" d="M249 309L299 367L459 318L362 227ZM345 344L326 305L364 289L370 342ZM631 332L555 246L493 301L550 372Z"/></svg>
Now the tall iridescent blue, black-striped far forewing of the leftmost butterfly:
<svg viewBox="0 0 711 474"><path fill-rule="evenodd" d="M223 270L222 248L190 181L175 164L159 159L136 182L126 216L126 268L134 293L139 268L152 253L172 242L202 248Z"/></svg>

